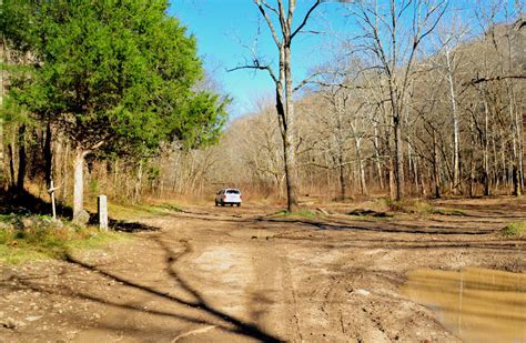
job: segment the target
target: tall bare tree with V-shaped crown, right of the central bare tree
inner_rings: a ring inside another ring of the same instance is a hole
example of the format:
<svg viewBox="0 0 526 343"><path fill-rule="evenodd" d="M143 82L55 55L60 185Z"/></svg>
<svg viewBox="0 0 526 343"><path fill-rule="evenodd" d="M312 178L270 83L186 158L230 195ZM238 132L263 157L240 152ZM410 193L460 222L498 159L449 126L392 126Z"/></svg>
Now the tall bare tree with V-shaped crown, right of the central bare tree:
<svg viewBox="0 0 526 343"><path fill-rule="evenodd" d="M395 199L403 198L402 115L419 46L444 16L446 0L365 0L348 9L362 32L356 50L371 56L385 78L395 144Z"/></svg>

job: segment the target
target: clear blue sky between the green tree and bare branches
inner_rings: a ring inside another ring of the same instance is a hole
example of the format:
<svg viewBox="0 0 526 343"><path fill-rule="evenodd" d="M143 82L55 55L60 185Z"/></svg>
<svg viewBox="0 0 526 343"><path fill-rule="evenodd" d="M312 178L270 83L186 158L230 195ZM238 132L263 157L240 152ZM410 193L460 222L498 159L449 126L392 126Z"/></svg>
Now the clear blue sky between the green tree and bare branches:
<svg viewBox="0 0 526 343"><path fill-rule="evenodd" d="M451 8L462 6L462 16L472 17L478 6L489 6L498 0L467 0L451 1ZM515 0L504 0L512 8ZM273 3L273 1L269 1ZM310 3L313 1L299 0L295 22L297 26ZM336 0L327 1L318 7L306 29L331 32L331 34L303 34L297 36L293 42L293 75L295 82L303 80L310 71L327 61L335 52L334 34L345 36L351 30L345 17L345 11ZM173 0L169 13L179 18L188 27L190 33L196 37L199 53L204 60L204 65L213 79L220 84L221 91L233 98L230 112L233 118L255 110L255 101L273 94L273 83L263 72L253 70L237 70L226 72L247 59L254 48L260 58L265 61L276 62L277 51L273 43L266 23L262 20L252 0ZM257 28L261 33L257 34Z"/></svg>

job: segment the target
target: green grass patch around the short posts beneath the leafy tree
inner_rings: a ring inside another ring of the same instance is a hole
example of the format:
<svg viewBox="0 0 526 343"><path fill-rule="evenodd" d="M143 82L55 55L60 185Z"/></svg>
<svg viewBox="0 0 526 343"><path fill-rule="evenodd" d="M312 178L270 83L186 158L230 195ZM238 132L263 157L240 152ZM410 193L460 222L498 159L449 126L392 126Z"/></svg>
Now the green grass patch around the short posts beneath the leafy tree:
<svg viewBox="0 0 526 343"><path fill-rule="evenodd" d="M18 264L34 260L64 259L72 249L103 248L124 233L102 232L51 220L48 216L13 215L0 219L0 262Z"/></svg>

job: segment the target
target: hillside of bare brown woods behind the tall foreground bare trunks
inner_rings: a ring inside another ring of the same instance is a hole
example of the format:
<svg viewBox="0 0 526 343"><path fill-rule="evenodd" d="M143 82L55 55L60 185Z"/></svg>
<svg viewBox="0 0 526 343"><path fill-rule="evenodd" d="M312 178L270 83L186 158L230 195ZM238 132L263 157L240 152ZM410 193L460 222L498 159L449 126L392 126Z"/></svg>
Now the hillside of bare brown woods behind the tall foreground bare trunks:
<svg viewBox="0 0 526 343"><path fill-rule="evenodd" d="M436 36L436 51L415 62L401 115L403 191L412 196L522 194L526 120L526 24L490 26L462 39ZM466 30L465 28L463 30ZM465 34L467 36L467 34ZM395 198L394 129L387 78L365 58L342 56L296 103L302 195ZM284 196L273 99L234 121L199 189L236 184Z"/></svg>

